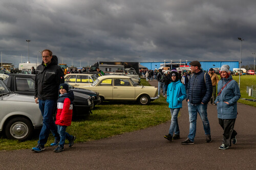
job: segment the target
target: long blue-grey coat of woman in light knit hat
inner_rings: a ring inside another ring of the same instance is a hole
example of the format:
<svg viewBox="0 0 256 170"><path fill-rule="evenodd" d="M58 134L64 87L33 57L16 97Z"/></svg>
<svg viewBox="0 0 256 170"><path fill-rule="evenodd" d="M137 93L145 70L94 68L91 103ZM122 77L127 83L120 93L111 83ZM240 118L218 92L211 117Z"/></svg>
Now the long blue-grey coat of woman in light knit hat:
<svg viewBox="0 0 256 170"><path fill-rule="evenodd" d="M227 82L232 80L230 75L227 79L222 78L218 83L218 93ZM218 118L232 119L237 118L237 101L240 99L240 89L238 83L234 80L230 81L217 96L215 103L217 103ZM224 103L227 102L228 104Z"/></svg>

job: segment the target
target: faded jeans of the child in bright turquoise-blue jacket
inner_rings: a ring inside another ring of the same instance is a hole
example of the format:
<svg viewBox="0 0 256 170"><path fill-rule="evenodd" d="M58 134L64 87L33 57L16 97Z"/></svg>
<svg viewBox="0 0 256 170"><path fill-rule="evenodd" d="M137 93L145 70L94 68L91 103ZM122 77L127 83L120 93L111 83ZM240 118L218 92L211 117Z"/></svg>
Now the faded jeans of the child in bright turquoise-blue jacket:
<svg viewBox="0 0 256 170"><path fill-rule="evenodd" d="M173 136L173 134L179 135L180 129L178 124L178 114L180 108L172 109L170 108L170 114L172 115L172 123L170 123L169 134Z"/></svg>

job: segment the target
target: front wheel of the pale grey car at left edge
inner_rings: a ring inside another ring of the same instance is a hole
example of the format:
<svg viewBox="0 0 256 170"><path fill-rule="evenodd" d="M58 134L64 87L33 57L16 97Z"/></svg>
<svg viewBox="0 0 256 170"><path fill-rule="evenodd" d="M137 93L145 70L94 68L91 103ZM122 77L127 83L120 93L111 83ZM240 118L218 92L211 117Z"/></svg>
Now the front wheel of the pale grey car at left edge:
<svg viewBox="0 0 256 170"><path fill-rule="evenodd" d="M28 119L16 117L7 123L5 134L9 139L24 141L31 137L33 130L33 125Z"/></svg>

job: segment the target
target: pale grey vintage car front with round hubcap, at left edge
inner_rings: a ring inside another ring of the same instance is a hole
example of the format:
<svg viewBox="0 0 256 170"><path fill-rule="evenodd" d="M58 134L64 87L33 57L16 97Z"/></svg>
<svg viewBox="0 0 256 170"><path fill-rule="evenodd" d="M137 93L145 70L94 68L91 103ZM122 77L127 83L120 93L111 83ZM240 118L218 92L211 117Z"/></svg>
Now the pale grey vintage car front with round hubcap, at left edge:
<svg viewBox="0 0 256 170"><path fill-rule="evenodd" d="M42 127L41 111L33 96L13 93L0 80L0 98L0 132L7 138L23 141Z"/></svg>

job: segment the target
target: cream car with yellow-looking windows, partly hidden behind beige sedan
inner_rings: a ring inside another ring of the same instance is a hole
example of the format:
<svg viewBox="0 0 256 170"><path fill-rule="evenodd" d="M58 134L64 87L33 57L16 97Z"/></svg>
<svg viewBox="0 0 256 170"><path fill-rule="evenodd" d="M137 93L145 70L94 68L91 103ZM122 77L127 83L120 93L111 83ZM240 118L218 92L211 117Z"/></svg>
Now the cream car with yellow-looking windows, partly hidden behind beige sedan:
<svg viewBox="0 0 256 170"><path fill-rule="evenodd" d="M74 87L91 85L96 79L97 77L92 74L77 73L65 75L65 81Z"/></svg>

